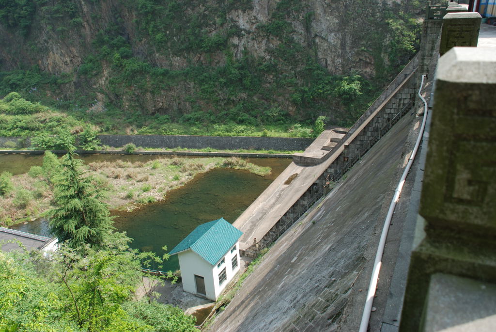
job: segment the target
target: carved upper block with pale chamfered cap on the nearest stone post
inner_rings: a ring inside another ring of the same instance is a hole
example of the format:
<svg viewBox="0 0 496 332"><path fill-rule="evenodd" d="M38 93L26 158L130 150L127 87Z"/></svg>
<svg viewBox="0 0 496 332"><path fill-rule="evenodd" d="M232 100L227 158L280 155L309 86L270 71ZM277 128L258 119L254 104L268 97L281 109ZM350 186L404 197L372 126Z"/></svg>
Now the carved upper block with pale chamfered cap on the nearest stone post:
<svg viewBox="0 0 496 332"><path fill-rule="evenodd" d="M455 47L436 76L420 214L496 236L496 54Z"/></svg>

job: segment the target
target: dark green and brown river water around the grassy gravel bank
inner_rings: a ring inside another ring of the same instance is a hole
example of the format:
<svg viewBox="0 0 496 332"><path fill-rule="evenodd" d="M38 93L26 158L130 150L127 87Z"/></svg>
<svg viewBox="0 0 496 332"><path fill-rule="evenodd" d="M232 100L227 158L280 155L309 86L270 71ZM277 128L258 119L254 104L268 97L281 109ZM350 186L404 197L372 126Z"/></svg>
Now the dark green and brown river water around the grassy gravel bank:
<svg viewBox="0 0 496 332"><path fill-rule="evenodd" d="M0 166L2 167L5 164L4 156L0 155ZM14 155L19 156L19 158L12 158L12 155L7 156L10 157L11 164L25 162L30 163L31 166L41 165L42 156ZM84 157L84 161L88 163L122 159L145 162L157 157L162 158L164 156L89 155ZM184 187L169 192L166 199L162 201L143 205L132 212L112 211L113 215L119 216L114 219L114 226L119 231L125 231L127 236L133 239L130 244L132 248L152 251L161 256L165 253L161 249L163 246L167 246L167 251L172 250L201 223L220 217L231 223L234 222L249 204L291 163L291 159L247 159L248 162L271 167L271 174L262 177L244 170L214 169L197 175ZM29 167L26 171L29 170ZM13 167L13 169L17 168ZM1 168L0 171L2 171ZM48 222L29 222L16 225L15 229L47 235ZM158 269L158 266L156 267ZM175 270L178 268L179 263L176 255L171 257L161 269Z"/></svg>

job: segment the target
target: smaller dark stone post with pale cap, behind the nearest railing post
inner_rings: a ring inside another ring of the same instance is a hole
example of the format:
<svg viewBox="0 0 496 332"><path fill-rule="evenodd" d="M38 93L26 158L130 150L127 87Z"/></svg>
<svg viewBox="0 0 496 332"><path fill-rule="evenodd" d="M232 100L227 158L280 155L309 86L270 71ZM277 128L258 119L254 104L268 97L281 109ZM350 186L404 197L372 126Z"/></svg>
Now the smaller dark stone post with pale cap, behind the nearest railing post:
<svg viewBox="0 0 496 332"><path fill-rule="evenodd" d="M444 15L439 54L443 55L454 46L477 46L481 20L481 14L476 12L455 12Z"/></svg>

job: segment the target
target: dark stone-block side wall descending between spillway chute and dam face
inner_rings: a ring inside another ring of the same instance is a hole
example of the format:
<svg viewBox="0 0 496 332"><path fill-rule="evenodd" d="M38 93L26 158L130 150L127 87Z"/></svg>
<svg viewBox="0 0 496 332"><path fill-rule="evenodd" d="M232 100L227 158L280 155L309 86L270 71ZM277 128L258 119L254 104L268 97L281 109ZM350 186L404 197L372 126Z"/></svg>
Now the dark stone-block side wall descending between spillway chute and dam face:
<svg viewBox="0 0 496 332"><path fill-rule="evenodd" d="M247 248L243 255L254 258L263 248L277 240L312 204L328 192L331 182L339 180L380 137L413 108L416 95L414 73L417 66L418 55L403 68L340 142L324 156L293 156L293 162L301 166L320 164L347 142L339 156L317 177L300 199L281 216L262 239ZM350 141L349 138L354 135L355 138Z"/></svg>

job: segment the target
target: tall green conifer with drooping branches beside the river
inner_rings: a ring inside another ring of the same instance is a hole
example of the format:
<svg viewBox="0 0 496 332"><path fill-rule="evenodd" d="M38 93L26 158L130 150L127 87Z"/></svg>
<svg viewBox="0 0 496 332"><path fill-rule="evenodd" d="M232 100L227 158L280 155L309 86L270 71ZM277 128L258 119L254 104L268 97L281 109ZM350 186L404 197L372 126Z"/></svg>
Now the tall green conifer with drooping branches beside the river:
<svg viewBox="0 0 496 332"><path fill-rule="evenodd" d="M51 233L74 249L122 239L123 234L113 233L113 217L108 205L102 202L105 198L102 188L97 188L94 179L82 170L83 162L75 158L74 147L70 146L67 151L55 185L55 201L59 207L50 213Z"/></svg>

